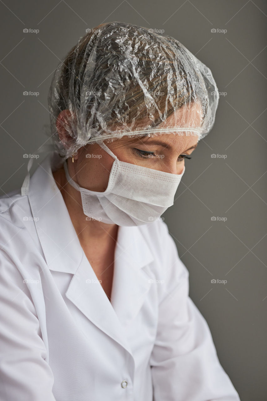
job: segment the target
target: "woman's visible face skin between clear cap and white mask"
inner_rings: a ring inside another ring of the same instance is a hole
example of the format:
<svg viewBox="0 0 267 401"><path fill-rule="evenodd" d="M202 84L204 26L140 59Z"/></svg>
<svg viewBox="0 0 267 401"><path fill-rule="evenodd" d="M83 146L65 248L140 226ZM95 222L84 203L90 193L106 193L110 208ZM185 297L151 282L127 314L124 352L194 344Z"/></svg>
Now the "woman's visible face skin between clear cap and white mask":
<svg viewBox="0 0 267 401"><path fill-rule="evenodd" d="M200 126L200 108L190 107L190 115L180 109L186 126L192 128ZM174 123L174 117L166 120L168 127ZM188 117L188 118L187 118ZM166 125L165 125L166 126ZM161 128L161 127L160 127ZM184 156L190 155L198 143L196 135L160 134L147 138L128 138L124 136L113 142L105 142L108 148L122 162L138 164L154 170L161 170L172 174L181 174L184 168ZM114 158L98 144L88 144L80 148L72 163L69 158L69 172L79 186L93 191L103 192L107 188L109 173Z"/></svg>

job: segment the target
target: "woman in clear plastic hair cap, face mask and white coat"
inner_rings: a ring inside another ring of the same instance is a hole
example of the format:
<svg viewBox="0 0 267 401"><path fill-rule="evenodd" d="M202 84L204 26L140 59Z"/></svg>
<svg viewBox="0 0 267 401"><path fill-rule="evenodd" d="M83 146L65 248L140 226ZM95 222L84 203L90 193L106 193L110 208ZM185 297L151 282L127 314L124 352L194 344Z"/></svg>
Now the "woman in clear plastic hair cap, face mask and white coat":
<svg viewBox="0 0 267 401"><path fill-rule="evenodd" d="M217 105L204 64L131 24L57 67L53 151L0 200L1 400L239 400L160 219Z"/></svg>

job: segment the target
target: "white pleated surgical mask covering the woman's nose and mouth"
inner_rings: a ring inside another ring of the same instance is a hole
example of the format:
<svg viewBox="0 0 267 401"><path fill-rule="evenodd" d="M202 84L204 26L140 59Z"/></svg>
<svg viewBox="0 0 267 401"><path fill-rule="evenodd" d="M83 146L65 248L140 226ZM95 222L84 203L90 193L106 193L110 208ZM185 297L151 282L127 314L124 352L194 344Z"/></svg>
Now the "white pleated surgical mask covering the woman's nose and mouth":
<svg viewBox="0 0 267 401"><path fill-rule="evenodd" d="M64 169L67 180L81 192L84 214L92 220L120 226L152 223L174 204L174 195L184 174L171 174L152 168L121 162L102 142L99 146L115 160L107 189L91 191L79 186Z"/></svg>

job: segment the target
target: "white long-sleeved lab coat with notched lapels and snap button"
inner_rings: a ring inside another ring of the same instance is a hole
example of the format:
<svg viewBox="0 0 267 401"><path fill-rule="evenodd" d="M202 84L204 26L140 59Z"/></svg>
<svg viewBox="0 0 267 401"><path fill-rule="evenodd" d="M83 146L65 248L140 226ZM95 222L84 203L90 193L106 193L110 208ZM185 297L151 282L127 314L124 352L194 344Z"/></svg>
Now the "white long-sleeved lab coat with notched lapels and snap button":
<svg viewBox="0 0 267 401"><path fill-rule="evenodd" d="M47 155L28 195L0 198L0 400L240 401L166 223L119 227L109 302L57 160Z"/></svg>

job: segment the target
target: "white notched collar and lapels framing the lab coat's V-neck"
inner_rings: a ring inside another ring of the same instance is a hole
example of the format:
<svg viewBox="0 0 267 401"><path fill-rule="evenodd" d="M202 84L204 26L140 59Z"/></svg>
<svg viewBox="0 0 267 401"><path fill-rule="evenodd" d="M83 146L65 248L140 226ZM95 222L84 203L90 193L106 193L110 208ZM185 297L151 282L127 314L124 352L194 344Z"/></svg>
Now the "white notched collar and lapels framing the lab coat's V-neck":
<svg viewBox="0 0 267 401"><path fill-rule="evenodd" d="M34 172L28 195L47 265L50 270L73 273L66 297L95 326L131 353L124 329L138 314L151 286L146 266L154 257L139 227L120 226L109 302L80 245L53 178L54 158L56 154L47 156Z"/></svg>

